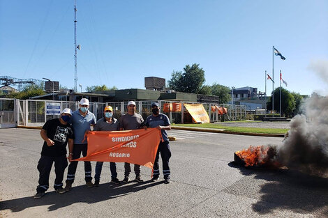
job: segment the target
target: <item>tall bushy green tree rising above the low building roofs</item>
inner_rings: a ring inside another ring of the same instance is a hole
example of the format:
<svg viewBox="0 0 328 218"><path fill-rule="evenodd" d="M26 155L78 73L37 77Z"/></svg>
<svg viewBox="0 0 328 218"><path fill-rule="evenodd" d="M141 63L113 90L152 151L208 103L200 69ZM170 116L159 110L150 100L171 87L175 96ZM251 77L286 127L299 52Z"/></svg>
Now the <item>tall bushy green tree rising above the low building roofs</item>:
<svg viewBox="0 0 328 218"><path fill-rule="evenodd" d="M170 88L184 93L199 93L205 82L204 70L199 64L186 65L184 72L173 71L168 81Z"/></svg>

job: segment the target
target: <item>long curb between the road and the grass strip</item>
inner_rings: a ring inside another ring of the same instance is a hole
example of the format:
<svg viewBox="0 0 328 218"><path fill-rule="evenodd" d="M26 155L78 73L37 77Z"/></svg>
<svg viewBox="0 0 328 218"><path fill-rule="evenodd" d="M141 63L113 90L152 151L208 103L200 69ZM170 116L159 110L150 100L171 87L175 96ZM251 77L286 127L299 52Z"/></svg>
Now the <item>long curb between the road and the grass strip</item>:
<svg viewBox="0 0 328 218"><path fill-rule="evenodd" d="M225 130L218 129L205 129L205 128L197 128L197 127L176 127L171 126L172 130L188 130L188 131L196 131L196 132L215 132L215 133L223 133L223 134L240 134L244 136L253 136L253 137L285 137L284 134L265 134L265 133L251 133L251 132L230 132Z"/></svg>

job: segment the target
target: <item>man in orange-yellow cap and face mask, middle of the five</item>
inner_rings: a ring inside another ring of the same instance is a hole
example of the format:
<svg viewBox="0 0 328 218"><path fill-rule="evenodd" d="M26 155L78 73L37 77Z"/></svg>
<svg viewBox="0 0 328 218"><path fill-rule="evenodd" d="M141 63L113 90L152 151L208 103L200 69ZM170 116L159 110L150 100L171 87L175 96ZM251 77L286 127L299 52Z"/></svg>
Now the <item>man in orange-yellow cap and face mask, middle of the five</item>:
<svg viewBox="0 0 328 218"><path fill-rule="evenodd" d="M94 131L118 131L119 130L119 120L112 117L113 109L109 105L104 109L104 117L97 120L94 126ZM98 186L100 182L101 169L103 168L103 162L97 162L96 164L96 174L94 176L94 185ZM116 163L110 162L110 173L112 174L113 184L119 184L117 179Z"/></svg>

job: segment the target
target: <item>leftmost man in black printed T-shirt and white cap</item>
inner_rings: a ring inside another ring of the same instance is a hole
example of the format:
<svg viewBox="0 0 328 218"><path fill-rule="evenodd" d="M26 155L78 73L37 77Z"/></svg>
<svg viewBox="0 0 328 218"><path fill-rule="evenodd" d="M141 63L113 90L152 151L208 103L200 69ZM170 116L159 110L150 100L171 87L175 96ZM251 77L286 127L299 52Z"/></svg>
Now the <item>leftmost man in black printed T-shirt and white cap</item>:
<svg viewBox="0 0 328 218"><path fill-rule="evenodd" d="M68 123L71 115L72 111L66 108L61 111L60 118L48 120L42 127L40 135L45 141L38 161L39 185L36 188L35 199L41 198L49 188L49 176L53 162L54 172L56 173L54 189L60 194L66 192L63 189L63 178L68 165L66 159L67 142L70 153L73 150L73 130ZM68 158L71 159L72 156L69 155Z"/></svg>

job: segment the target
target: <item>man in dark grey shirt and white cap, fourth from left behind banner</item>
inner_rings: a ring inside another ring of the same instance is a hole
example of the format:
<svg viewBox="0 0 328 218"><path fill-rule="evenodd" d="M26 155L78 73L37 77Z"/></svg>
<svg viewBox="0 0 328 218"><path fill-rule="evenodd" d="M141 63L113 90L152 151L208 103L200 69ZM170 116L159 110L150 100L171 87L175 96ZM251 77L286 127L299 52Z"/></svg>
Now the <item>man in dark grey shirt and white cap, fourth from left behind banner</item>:
<svg viewBox="0 0 328 218"><path fill-rule="evenodd" d="M121 116L119 120L120 130L137 130L143 127L144 119L140 114L135 113L135 102L128 102L128 113ZM134 164L135 171L135 181L143 182L140 176L140 165ZM131 173L131 165L129 163L124 163L124 180L123 182L128 182Z"/></svg>

